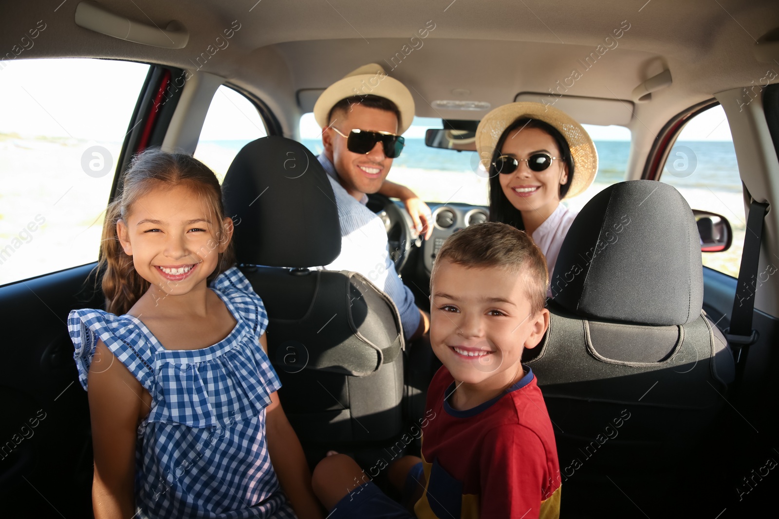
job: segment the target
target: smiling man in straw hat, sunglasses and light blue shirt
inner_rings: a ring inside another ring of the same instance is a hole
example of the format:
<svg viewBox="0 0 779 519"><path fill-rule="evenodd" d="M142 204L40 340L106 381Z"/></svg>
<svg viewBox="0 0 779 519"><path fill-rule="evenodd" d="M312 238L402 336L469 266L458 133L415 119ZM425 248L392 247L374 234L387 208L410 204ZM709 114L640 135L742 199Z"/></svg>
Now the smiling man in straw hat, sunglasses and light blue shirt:
<svg viewBox="0 0 779 519"><path fill-rule="evenodd" d="M407 340L428 331L429 316L395 271L382 220L365 206L368 194L405 198L418 230L430 226L430 209L411 190L386 181L414 119L414 99L381 65L364 65L330 85L314 105L324 151L318 157L336 196L341 253L331 270L360 272L392 298ZM416 198L411 205L409 198ZM416 213L416 214L415 214ZM424 220L424 226L421 221Z"/></svg>

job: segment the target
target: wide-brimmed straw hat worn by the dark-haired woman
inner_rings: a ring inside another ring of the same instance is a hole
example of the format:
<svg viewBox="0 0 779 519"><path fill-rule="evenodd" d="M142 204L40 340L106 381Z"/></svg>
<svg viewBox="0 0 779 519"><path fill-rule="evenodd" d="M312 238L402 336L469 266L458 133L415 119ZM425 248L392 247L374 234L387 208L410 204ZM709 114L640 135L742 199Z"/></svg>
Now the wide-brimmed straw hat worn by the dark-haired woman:
<svg viewBox="0 0 779 519"><path fill-rule="evenodd" d="M573 157L573 181L566 198L585 191L597 173L597 150L590 135L568 114L541 103L509 103L489 112L476 129L476 150L481 160L492 160L500 136L520 117L538 119L551 124L568 142Z"/></svg>

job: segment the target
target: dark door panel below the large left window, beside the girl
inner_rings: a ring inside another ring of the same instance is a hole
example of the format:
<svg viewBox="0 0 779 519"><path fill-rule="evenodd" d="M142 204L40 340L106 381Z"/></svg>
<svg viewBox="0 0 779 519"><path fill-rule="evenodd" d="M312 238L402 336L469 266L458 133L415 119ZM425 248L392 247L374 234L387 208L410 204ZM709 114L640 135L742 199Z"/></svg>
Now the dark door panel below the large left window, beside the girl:
<svg viewBox="0 0 779 519"><path fill-rule="evenodd" d="M94 266L0 287L0 502L29 517L90 514L89 408L65 323L74 308L102 305L86 286Z"/></svg>

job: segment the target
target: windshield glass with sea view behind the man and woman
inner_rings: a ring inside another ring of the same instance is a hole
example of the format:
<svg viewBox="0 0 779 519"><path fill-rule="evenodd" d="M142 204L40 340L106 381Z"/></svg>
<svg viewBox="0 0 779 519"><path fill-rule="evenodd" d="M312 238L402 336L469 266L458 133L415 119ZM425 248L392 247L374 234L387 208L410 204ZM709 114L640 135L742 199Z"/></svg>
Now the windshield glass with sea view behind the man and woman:
<svg viewBox="0 0 779 519"><path fill-rule="evenodd" d="M566 205L580 209L598 191L625 180L630 149L630 131L622 126L583 125L595 140L598 170L594 184L582 195L564 200ZM404 133L406 146L393 160L387 179L403 184L425 202L464 202L489 205L488 178L479 167L476 152L431 148L425 145L428 128L442 128L441 119L414 117L414 123ZM308 113L300 121L301 142L315 155L322 153L321 130Z"/></svg>

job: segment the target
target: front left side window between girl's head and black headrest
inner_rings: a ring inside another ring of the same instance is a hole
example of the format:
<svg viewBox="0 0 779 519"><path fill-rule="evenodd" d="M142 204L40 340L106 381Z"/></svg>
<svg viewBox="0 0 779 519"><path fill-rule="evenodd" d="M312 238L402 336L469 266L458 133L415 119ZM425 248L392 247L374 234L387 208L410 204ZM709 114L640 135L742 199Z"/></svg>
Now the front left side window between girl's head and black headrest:
<svg viewBox="0 0 779 519"><path fill-rule="evenodd" d="M194 156L223 181L241 148L266 135L257 107L242 93L222 85L213 94Z"/></svg>

